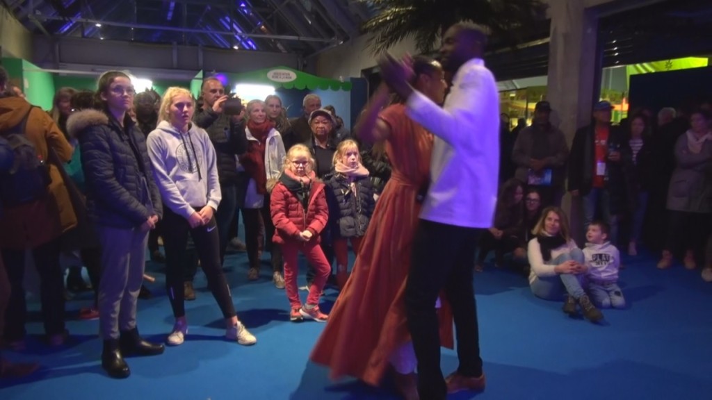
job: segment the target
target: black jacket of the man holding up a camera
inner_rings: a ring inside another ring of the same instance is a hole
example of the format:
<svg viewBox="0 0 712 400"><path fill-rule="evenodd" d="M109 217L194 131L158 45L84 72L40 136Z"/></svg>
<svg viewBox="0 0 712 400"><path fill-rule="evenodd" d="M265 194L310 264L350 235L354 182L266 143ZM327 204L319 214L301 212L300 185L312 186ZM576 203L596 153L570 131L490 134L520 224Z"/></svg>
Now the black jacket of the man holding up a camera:
<svg viewBox="0 0 712 400"><path fill-rule="evenodd" d="M202 108L193 117L195 125L208 132L215 147L220 184L238 183L235 156L247 151L247 137L243 124L232 122L229 115L216 114Z"/></svg>

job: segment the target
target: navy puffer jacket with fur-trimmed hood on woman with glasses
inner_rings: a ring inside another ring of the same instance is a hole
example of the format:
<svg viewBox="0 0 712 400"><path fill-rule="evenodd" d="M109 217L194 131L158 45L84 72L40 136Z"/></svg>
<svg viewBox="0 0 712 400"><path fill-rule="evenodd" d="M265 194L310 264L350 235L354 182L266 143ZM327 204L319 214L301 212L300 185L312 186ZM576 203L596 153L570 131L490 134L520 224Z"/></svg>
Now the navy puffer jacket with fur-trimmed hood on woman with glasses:
<svg viewBox="0 0 712 400"><path fill-rule="evenodd" d="M153 180L146 140L130 117L122 128L114 117L84 110L80 119L82 169L90 216L99 225L135 228L162 216L161 196Z"/></svg>

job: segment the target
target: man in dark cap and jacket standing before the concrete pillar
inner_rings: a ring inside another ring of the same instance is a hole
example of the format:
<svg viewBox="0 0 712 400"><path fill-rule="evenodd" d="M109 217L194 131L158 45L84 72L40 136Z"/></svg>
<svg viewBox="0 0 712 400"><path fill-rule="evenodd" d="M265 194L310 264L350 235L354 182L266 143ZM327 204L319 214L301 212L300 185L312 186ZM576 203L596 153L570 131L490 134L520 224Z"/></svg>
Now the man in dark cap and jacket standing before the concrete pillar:
<svg viewBox="0 0 712 400"><path fill-rule="evenodd" d="M560 206L569 157L564 132L551 124L550 115L548 101L536 103L532 125L521 130L511 154L515 178L538 189L544 207Z"/></svg>

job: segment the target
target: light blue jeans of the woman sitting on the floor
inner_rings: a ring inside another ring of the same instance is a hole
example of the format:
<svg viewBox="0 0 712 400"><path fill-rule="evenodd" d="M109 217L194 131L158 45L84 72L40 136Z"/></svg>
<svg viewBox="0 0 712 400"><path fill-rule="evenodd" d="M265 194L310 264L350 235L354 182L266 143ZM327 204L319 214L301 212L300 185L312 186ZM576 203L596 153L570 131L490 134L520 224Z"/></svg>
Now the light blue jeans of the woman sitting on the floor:
<svg viewBox="0 0 712 400"><path fill-rule="evenodd" d="M570 253L564 253L553 260L549 260L548 265L559 265L568 260L575 260L577 263L583 263L583 251L580 248L575 248ZM540 276L531 284L532 293L538 298L545 300L563 300L564 295L572 295L575 299L585 295L585 291L581 285L583 274L573 275L570 273L562 273L555 276Z"/></svg>

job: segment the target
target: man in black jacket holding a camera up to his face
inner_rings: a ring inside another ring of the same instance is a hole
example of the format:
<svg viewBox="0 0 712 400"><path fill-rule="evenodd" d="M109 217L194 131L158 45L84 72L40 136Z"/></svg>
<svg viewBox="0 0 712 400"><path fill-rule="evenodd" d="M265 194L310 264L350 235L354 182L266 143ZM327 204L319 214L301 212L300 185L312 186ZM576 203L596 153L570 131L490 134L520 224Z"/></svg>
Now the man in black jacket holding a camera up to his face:
<svg viewBox="0 0 712 400"><path fill-rule="evenodd" d="M225 261L230 224L236 219L237 210L243 206L247 179L237 171L235 157L247 151L245 127L241 115L226 115L223 112L227 100L225 89L217 78L207 78L202 86L203 106L196 110L195 124L208 132L215 147L222 200L215 219L220 236L220 260Z"/></svg>

